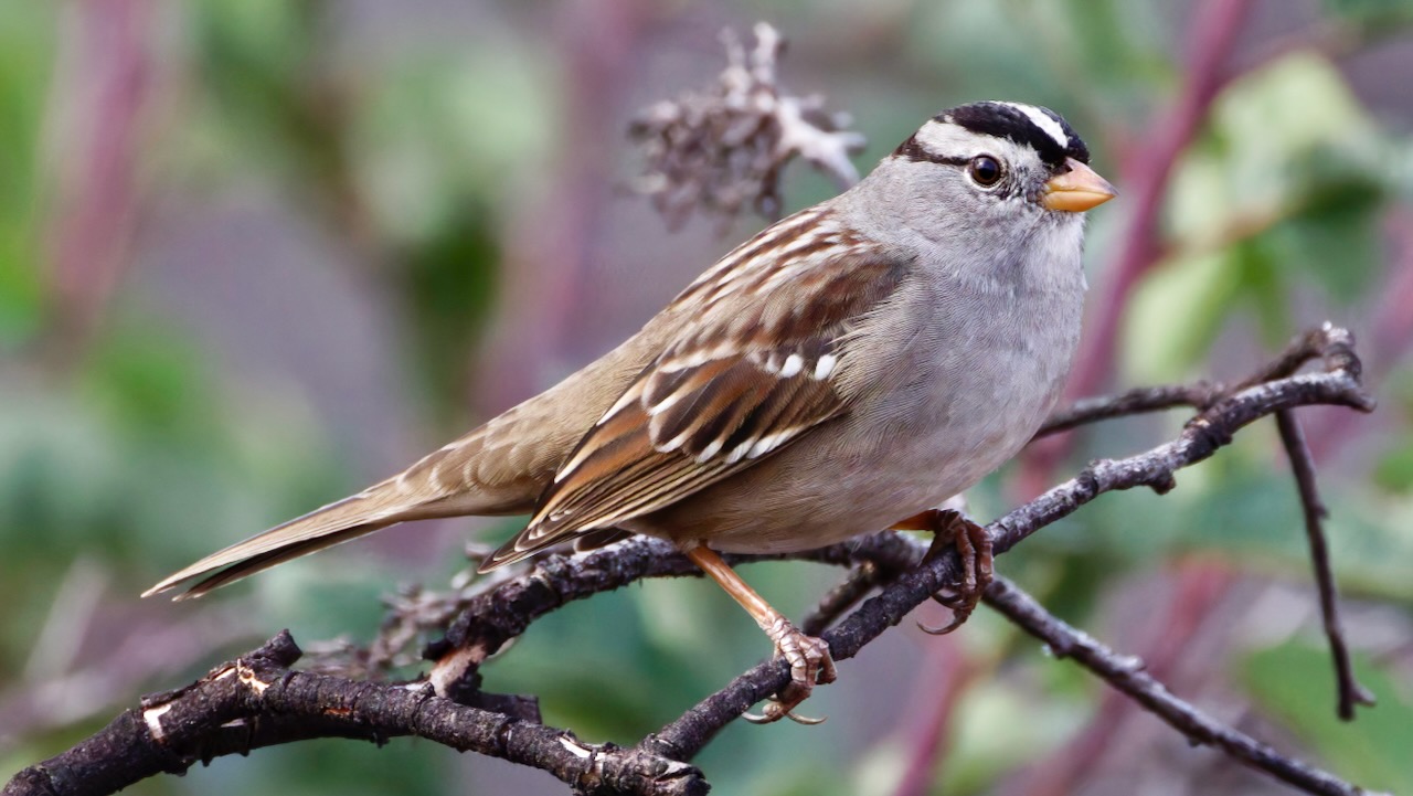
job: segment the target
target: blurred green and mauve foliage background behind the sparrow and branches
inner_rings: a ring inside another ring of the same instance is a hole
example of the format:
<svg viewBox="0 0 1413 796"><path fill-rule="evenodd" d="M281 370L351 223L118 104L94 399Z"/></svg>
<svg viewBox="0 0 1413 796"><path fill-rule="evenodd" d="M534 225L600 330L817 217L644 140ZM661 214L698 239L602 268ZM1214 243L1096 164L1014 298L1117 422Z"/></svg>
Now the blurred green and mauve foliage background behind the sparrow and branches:
<svg viewBox="0 0 1413 796"><path fill-rule="evenodd" d="M1219 718L1413 792L1406 0L0 4L0 772L280 628L367 640L380 595L437 588L461 540L510 533L407 527L195 605L136 598L548 386L762 225L670 235L623 191L634 110L712 79L718 33L757 18L791 40L787 85L853 115L865 168L969 99L1043 103L1084 133L1125 195L1091 221L1077 394L1239 377L1301 328L1356 331L1378 414L1301 417L1379 697L1358 721L1334 718L1272 428L1167 496L1106 495L1000 568ZM787 209L831 191L796 167ZM1088 430L972 509L1180 423ZM838 573L747 577L798 615ZM845 663L810 703L824 727L732 727L698 762L759 796L1280 792L983 614ZM632 742L764 652L714 587L647 583L536 624L486 676ZM408 741L259 751L133 792L273 789L560 792Z"/></svg>

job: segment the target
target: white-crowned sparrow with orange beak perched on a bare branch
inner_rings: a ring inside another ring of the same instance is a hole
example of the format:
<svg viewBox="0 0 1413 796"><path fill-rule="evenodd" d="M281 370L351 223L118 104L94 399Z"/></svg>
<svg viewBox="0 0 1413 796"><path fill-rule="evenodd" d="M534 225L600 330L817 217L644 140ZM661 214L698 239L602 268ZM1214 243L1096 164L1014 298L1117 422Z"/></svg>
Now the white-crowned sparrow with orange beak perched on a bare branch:
<svg viewBox="0 0 1413 796"><path fill-rule="evenodd" d="M714 550L947 530L928 510L1010 458L1070 370L1081 211L1113 197L1088 160L1051 110L947 110L849 191L738 246L555 387L147 594L202 577L182 595L198 597L414 519L533 513L483 570L646 533L702 566L790 659L794 683L767 718L788 715L834 677L828 648ZM971 542L985 546L985 534ZM974 580L971 604L985 574Z"/></svg>

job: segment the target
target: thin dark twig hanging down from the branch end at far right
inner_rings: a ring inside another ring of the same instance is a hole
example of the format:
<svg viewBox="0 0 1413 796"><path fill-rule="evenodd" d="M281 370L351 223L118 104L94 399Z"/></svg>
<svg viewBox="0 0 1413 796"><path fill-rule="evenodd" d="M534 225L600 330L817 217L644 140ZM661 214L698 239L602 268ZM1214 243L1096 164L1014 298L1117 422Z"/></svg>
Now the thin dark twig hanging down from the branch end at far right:
<svg viewBox="0 0 1413 796"><path fill-rule="evenodd" d="M1349 662L1349 648L1344 642L1344 626L1340 622L1340 604L1334 574L1330 567L1330 546L1325 543L1324 519L1330 516L1320 492L1316 488L1316 468L1300 430L1296 413L1284 409L1276 413L1280 441L1290 457L1290 469L1300 491L1300 508L1306 515L1306 536L1310 539L1310 561L1316 570L1316 587L1320 591L1320 616L1324 621L1325 636L1330 638L1330 655L1334 657L1335 686L1340 693L1337 713L1345 721L1354 720L1355 706L1372 706L1373 694L1359 684Z"/></svg>

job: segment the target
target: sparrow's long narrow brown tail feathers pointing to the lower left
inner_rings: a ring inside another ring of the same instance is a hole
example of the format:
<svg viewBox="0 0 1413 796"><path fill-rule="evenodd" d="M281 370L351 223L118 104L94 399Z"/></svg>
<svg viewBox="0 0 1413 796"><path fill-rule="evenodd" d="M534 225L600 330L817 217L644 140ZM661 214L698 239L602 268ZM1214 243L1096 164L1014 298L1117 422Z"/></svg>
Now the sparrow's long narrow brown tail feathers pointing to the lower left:
<svg viewBox="0 0 1413 796"><path fill-rule="evenodd" d="M161 583L144 591L143 597L151 597L185 581L202 578L187 592L175 597L175 599L192 599L291 558L357 539L403 520L431 516L427 512L420 512L418 509L422 506L418 503L411 506L406 503L389 505L390 501L382 492L377 488L360 492L232 544L219 553L212 553L185 570L167 575Z"/></svg>

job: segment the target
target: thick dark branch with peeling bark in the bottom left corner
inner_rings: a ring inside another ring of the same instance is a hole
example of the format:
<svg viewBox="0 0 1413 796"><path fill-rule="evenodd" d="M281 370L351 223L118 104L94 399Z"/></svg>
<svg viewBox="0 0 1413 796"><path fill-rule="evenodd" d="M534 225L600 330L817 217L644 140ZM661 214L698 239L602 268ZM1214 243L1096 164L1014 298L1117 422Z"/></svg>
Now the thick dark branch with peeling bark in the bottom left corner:
<svg viewBox="0 0 1413 796"><path fill-rule="evenodd" d="M377 744L417 735L544 769L577 793L699 795L701 772L639 749L585 744L574 734L438 697L425 683L353 681L290 669L288 632L196 683L143 700L73 749L31 766L4 796L112 793L155 773L181 773L219 755L305 738Z"/></svg>

